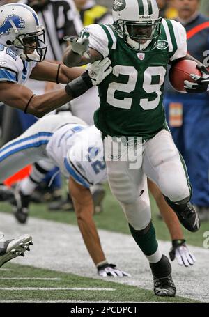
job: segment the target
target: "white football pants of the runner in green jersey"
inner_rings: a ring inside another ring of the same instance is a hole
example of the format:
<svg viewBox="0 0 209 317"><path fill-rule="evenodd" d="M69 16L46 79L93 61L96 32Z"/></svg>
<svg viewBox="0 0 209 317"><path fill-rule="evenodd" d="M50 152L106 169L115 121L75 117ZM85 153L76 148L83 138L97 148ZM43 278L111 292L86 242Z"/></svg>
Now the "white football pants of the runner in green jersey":
<svg viewBox="0 0 209 317"><path fill-rule="evenodd" d="M173 202L189 197L187 172L167 130L160 131L155 137L139 145L139 155L141 152L142 157L141 166L137 169L130 169L130 160L109 160L107 153L110 153L111 140L111 137L104 138L107 178L112 193L134 229L145 229L151 219L147 177Z"/></svg>

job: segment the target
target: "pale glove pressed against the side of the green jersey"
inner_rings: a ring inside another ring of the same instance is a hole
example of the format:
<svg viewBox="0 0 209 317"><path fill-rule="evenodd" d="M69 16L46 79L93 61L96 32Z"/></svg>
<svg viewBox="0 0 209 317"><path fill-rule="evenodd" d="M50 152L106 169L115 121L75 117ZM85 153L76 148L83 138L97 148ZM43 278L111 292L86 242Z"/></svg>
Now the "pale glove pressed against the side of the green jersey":
<svg viewBox="0 0 209 317"><path fill-rule="evenodd" d="M91 78L93 86L96 86L102 82L112 72L111 60L106 57L102 61L95 61L92 64L88 64L86 71Z"/></svg>

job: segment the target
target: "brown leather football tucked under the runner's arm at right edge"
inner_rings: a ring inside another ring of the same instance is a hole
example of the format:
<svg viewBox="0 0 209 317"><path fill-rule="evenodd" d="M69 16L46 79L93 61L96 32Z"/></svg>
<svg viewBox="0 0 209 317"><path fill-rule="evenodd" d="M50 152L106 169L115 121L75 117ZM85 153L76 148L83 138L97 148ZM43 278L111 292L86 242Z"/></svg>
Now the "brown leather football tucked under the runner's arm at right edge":
<svg viewBox="0 0 209 317"><path fill-rule="evenodd" d="M194 82L192 77L190 77L190 74L202 76L201 71L196 68L196 65L195 61L184 59L171 66L169 71L169 81L176 91L186 93L184 81L188 80L189 82Z"/></svg>

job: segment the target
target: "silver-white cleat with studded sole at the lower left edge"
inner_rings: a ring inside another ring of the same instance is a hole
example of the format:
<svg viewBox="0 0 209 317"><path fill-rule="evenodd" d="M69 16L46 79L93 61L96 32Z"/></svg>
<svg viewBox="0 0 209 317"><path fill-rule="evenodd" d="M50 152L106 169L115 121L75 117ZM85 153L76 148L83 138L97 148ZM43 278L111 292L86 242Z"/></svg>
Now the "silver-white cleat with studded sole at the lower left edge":
<svg viewBox="0 0 209 317"><path fill-rule="evenodd" d="M0 241L0 267L17 256L24 256L33 245L31 235L21 235L19 238Z"/></svg>

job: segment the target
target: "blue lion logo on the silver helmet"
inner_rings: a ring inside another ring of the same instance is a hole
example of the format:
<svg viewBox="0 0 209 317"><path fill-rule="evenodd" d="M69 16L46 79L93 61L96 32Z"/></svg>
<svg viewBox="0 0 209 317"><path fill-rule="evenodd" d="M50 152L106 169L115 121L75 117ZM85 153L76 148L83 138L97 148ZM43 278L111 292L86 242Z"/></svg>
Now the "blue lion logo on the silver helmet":
<svg viewBox="0 0 209 317"><path fill-rule="evenodd" d="M10 29L22 30L25 28L25 22L18 15L9 15L0 25L0 36L9 35Z"/></svg>

